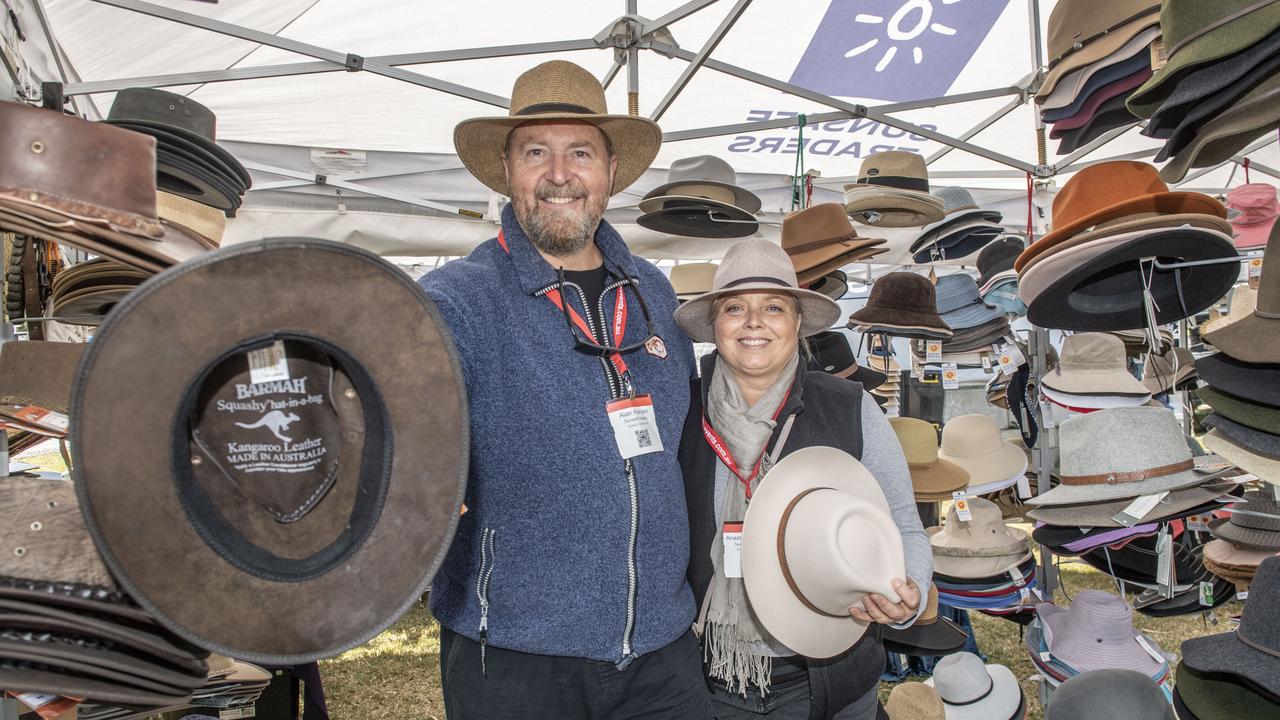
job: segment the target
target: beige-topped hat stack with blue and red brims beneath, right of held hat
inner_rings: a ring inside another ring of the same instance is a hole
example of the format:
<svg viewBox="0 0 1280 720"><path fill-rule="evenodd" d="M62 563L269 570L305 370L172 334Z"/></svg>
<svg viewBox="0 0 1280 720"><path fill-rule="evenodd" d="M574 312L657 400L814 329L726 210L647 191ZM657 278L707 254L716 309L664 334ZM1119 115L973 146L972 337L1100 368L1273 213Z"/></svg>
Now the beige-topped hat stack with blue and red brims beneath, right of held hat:
<svg viewBox="0 0 1280 720"><path fill-rule="evenodd" d="M928 529L938 602L992 615L1032 607L1039 596L1027 533L1006 525L989 500L968 498L968 512L961 520L952 503L945 524Z"/></svg>

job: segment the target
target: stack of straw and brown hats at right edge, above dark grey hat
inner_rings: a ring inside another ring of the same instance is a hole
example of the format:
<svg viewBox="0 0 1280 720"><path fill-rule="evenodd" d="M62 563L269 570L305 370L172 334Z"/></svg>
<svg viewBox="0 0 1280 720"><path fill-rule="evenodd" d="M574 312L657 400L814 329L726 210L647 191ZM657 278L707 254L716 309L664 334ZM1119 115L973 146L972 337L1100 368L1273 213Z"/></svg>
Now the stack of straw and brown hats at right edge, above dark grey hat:
<svg viewBox="0 0 1280 720"><path fill-rule="evenodd" d="M1258 565L1280 553L1280 503L1271 488L1252 491L1228 512L1228 518L1210 523L1215 539L1204 546L1204 564L1245 589Z"/></svg>

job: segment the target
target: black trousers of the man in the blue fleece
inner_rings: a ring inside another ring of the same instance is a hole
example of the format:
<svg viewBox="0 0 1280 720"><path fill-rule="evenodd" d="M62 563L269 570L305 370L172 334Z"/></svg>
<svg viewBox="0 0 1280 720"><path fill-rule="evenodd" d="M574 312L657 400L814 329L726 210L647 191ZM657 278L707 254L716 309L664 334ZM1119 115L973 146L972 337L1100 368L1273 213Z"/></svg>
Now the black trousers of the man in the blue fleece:
<svg viewBox="0 0 1280 720"><path fill-rule="evenodd" d="M449 720L709 720L710 689L690 630L625 670L582 657L530 655L440 628L440 682Z"/></svg>

